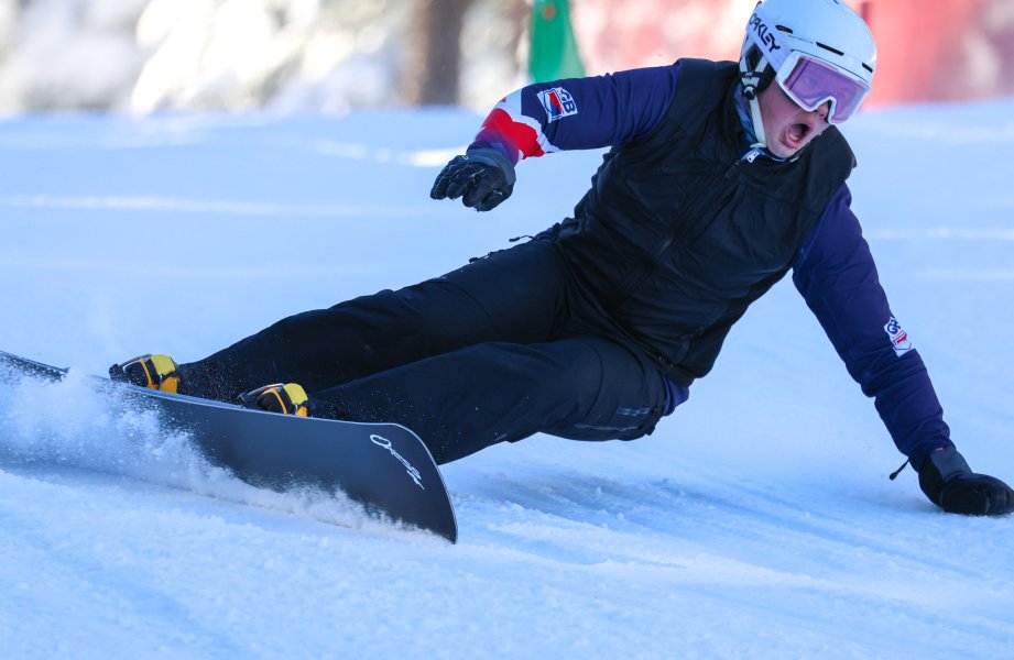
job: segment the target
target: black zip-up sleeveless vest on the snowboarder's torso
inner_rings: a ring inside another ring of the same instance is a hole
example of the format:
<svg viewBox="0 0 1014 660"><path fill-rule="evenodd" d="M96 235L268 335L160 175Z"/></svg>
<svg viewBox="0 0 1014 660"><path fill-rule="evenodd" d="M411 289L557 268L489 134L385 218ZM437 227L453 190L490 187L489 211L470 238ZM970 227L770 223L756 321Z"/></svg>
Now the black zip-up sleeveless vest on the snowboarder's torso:
<svg viewBox="0 0 1014 660"><path fill-rule="evenodd" d="M604 311L683 385L792 266L854 167L833 127L792 162L741 161L734 63L682 59L652 133L613 147L559 245Z"/></svg>

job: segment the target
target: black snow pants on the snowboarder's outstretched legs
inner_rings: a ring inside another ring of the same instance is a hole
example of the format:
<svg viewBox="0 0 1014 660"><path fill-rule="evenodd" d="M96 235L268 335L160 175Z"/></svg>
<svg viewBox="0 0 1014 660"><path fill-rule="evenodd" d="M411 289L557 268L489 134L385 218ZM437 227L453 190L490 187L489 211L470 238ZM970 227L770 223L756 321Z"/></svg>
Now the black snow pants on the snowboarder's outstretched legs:
<svg viewBox="0 0 1014 660"><path fill-rule="evenodd" d="M314 416L404 425L439 463L536 432L640 438L666 406L659 369L548 240L288 317L181 375L182 392L230 402L299 383Z"/></svg>

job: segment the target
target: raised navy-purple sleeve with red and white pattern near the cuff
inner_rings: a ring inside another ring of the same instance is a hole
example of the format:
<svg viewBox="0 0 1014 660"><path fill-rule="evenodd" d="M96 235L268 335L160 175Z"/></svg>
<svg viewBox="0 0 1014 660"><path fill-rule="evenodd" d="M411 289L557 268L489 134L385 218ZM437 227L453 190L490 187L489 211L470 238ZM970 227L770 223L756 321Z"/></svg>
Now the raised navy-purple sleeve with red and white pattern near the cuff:
<svg viewBox="0 0 1014 660"><path fill-rule="evenodd" d="M493 108L469 148L497 148L516 164L635 140L665 117L678 73L673 64L528 85Z"/></svg>

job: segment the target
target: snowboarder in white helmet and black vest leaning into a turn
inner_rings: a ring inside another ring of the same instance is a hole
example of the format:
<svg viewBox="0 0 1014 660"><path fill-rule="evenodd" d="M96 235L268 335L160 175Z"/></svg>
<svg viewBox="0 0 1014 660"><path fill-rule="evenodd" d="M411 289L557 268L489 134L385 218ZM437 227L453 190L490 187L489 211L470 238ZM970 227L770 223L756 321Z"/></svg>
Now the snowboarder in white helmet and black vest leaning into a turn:
<svg viewBox="0 0 1014 660"><path fill-rule="evenodd" d="M524 87L430 196L489 211L510 197L520 160L611 146L573 218L198 362L149 355L110 373L279 413L399 422L438 462L536 432L631 440L687 400L732 324L792 270L927 497L1006 514L1014 491L955 448L850 210L855 162L836 124L855 114L874 66L872 34L843 2L766 0L738 64L680 59Z"/></svg>

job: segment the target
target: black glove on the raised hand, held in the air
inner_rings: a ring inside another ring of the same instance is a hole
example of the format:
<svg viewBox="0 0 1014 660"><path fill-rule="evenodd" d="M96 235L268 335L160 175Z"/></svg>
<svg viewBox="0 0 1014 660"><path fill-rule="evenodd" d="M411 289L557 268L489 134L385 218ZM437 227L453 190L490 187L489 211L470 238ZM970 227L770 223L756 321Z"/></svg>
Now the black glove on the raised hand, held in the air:
<svg viewBox="0 0 1014 660"><path fill-rule="evenodd" d="M514 191L514 166L495 148L473 148L455 156L433 184L433 199L457 199L477 211L489 211Z"/></svg>

